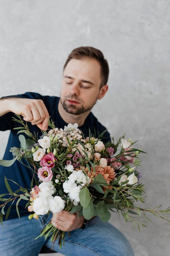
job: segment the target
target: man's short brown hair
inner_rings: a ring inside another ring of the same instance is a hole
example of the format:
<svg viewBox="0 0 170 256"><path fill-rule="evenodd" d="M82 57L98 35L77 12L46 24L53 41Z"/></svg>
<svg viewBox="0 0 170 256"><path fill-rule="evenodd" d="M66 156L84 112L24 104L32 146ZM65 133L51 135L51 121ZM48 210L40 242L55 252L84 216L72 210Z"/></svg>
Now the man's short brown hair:
<svg viewBox="0 0 170 256"><path fill-rule="evenodd" d="M109 75L109 67L108 67L108 61L104 58L103 53L94 47L91 46L82 46L75 48L69 55L66 60L66 63L64 64L63 70L66 68L66 65L68 64L71 59L84 59L84 58L95 58L100 66L101 66L101 87L103 85L106 85L108 82L108 75Z"/></svg>

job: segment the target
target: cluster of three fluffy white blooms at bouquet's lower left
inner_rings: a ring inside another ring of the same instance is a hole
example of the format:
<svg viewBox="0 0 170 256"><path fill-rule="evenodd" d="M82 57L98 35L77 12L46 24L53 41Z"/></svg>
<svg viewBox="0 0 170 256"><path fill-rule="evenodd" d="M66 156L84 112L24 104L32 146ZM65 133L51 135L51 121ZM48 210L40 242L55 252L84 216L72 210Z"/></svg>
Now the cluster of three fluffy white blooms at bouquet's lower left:
<svg viewBox="0 0 170 256"><path fill-rule="evenodd" d="M32 204L33 211L36 215L44 215L49 211L56 213L64 209L65 201L60 196L53 197L56 189L52 181L42 182L38 188L40 191Z"/></svg>

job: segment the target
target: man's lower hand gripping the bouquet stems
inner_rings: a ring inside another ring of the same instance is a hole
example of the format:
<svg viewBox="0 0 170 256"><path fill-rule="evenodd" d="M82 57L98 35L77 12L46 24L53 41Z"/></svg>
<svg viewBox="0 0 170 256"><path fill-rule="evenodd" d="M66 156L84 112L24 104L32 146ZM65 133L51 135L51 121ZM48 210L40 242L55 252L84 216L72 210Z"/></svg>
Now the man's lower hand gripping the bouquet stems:
<svg viewBox="0 0 170 256"><path fill-rule="evenodd" d="M79 212L70 214L69 211L63 210L59 213L53 213L51 223L62 231L72 231L82 227L84 220L84 216L79 217Z"/></svg>

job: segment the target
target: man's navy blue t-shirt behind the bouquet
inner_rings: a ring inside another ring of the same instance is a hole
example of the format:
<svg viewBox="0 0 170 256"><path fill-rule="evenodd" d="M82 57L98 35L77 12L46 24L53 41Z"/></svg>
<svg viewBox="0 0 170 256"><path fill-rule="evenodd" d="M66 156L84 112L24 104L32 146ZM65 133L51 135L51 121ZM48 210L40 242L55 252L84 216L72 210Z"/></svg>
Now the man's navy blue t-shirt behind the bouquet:
<svg viewBox="0 0 170 256"><path fill-rule="evenodd" d="M19 94L11 97L21 97L21 98L29 98L29 99L42 99L44 102L49 115L51 119L53 120L55 127L57 128L64 128L64 126L67 126L66 122L60 117L60 114L58 112L58 102L59 97L51 97L51 96L42 96L38 93L34 92L26 92L25 94ZM18 130L14 130L13 128L19 127L20 124L13 121L12 117L16 117L12 112L9 112L2 117L0 117L0 130L11 130L9 135L9 140L7 143L7 148L4 153L4 159L12 159L12 153L9 152L11 147L18 147L20 148L20 141L18 139L17 132ZM30 122L27 123L29 126L29 130L34 134L38 134L38 137L42 135L40 129L35 125L32 126ZM92 112L88 115L86 118L84 124L79 127L79 129L82 130L84 137L87 137L89 135L89 130L91 132L91 135L94 135L97 137L99 134L101 134L106 128L102 126L102 124L97 121L97 118L92 114ZM25 136L25 134L24 134ZM102 139L104 142L110 141L110 134L108 131L104 133L104 138ZM0 194L8 193L7 188L4 183L4 176L9 179L15 181L17 184L22 186L23 188L30 189L31 187L31 180L33 178L33 171L30 168L27 168L23 164L21 164L19 161L15 161L15 163L10 167L4 167L0 166ZM18 186L9 181L9 184L11 186L11 189L13 191L18 190ZM16 203L16 202L15 202ZM11 207L11 211L9 214L9 218L17 218L18 214L16 212L15 203ZM21 200L19 202L19 212L20 216L22 215L29 215L27 208L25 209L27 201ZM9 204L9 203L8 203ZM7 207L5 211L7 211L9 205L7 204Z"/></svg>

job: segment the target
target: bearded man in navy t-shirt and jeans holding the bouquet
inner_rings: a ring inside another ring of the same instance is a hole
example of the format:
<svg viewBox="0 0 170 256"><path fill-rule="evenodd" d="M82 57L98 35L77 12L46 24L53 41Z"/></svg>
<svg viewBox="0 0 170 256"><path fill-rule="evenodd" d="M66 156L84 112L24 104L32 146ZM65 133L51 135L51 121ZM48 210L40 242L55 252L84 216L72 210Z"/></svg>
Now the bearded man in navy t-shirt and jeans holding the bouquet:
<svg viewBox="0 0 170 256"><path fill-rule="evenodd" d="M68 56L64 65L62 88L59 97L42 96L38 93L5 97L0 99L0 130L11 130L4 159L11 159L9 148L20 146L17 130L18 126L12 120L14 113L22 115L28 122L32 132L47 130L49 116L58 128L64 128L69 123L77 123L79 128L88 136L98 135L106 128L93 116L91 109L97 99L102 99L108 90L109 68L102 52L93 47L79 47ZM110 140L108 132L104 140ZM18 161L11 167L0 166L0 194L7 193L4 176L29 188L32 173ZM10 183L13 191L18 187ZM29 220L25 202L19 204L20 216L18 219L15 205L12 205L8 220L4 221L4 228L0 227L0 255L4 256L38 256L43 245L51 248L49 239L35 238L51 220L52 224L63 231L70 231L66 236L65 245L61 253L65 255L86 256L133 256L128 240L110 223L104 223L97 216L88 221L85 229L84 217L78 213L69 214L68 211L52 213L49 216L40 216L38 220ZM6 209L7 211L7 209ZM59 251L57 241L53 250Z"/></svg>

